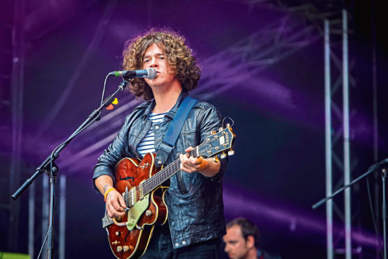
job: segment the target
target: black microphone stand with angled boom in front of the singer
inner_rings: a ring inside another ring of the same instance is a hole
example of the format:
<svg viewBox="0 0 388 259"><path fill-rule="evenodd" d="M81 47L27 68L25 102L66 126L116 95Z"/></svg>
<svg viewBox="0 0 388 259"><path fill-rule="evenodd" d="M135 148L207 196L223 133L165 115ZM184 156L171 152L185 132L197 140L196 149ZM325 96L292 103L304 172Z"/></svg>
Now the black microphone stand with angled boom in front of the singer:
<svg viewBox="0 0 388 259"><path fill-rule="evenodd" d="M70 135L70 137L63 143L61 143L58 147L56 147L53 152L51 152L51 155L45 159L45 161L40 164L38 168L36 168L35 173L31 176L31 178L27 179L24 184L15 191L12 198L15 200L17 197L19 197L20 194L22 194L23 191L27 189L35 180L35 178L38 177L40 173L43 173L47 171L50 177L50 210L49 210L49 229L47 230L47 258L51 259L53 255L53 246L54 246L54 235L53 235L53 222L54 222L54 194L55 194L55 182L56 182L56 175L58 174L58 166L54 164L55 159L59 157L60 151L62 151L67 144L69 144L72 139L79 133L81 133L83 130L85 130L88 126L90 126L92 123L94 123L96 120L99 120L99 116L101 114L101 110L104 107L108 107L109 104L111 104L114 100L115 95L119 91L124 90L124 88L127 86L129 82L124 79L122 83L119 84L118 89L115 91L115 93L109 95L106 97L106 99L102 102L101 106L95 109L90 116L81 124L81 126L76 129L73 134ZM46 240L45 240L46 241ZM42 244L42 248L45 246L45 242Z"/></svg>

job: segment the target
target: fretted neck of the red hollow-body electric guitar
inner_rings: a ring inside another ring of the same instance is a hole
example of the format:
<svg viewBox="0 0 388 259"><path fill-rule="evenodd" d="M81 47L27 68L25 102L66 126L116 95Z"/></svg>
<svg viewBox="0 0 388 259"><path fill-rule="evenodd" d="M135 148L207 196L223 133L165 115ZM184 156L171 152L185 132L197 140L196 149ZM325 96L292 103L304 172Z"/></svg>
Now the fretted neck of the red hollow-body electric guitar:
<svg viewBox="0 0 388 259"><path fill-rule="evenodd" d="M195 150L197 150L197 148L193 148L191 152L188 152L188 155L191 157L199 157ZM155 175L152 175L151 178L148 178L142 183L143 195L151 192L153 189L161 185L165 180L168 180L172 175L175 175L175 173L177 173L179 170L181 170L181 160L177 159L168 166L165 166L165 168L163 168Z"/></svg>

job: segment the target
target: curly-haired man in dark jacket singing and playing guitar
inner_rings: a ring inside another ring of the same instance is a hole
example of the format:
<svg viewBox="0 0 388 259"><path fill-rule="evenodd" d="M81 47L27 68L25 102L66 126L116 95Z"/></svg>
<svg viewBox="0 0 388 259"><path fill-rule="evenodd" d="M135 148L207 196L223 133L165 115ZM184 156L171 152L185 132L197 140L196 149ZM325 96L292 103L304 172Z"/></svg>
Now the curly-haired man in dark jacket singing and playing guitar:
<svg viewBox="0 0 388 259"><path fill-rule="evenodd" d="M123 54L124 70L154 68L156 77L131 80L131 93L147 102L127 116L94 169L95 186L106 197L111 218L124 216L127 208L114 188L113 168L124 157L141 160L147 152L159 151L181 102L200 79L200 68L186 40L173 31L151 29L129 40ZM181 161L181 171L170 178L165 194L168 222L155 226L143 258L218 258L218 246L226 233L222 178L227 162L188 157L187 153L221 126L220 113L207 102L196 102L188 113L164 164Z"/></svg>

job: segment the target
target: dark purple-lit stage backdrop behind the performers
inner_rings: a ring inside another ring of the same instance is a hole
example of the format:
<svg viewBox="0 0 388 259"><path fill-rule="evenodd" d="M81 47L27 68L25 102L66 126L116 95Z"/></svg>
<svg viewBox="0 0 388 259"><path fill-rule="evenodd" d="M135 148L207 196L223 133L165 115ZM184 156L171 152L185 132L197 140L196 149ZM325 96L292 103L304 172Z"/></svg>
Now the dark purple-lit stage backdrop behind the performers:
<svg viewBox="0 0 388 259"><path fill-rule="evenodd" d="M236 154L229 157L223 182L225 217L257 223L264 250L282 258L326 258L325 205L312 210L326 188L325 20L332 189L343 185L343 74L349 82L351 179L388 157L381 1L0 3L0 251L38 256L49 215L47 175L39 175L16 201L10 196L99 106L106 74L120 70L124 42L154 26L186 37L202 68L191 95L234 120ZM120 78L108 79L106 94L118 84ZM54 258L113 258L92 168L139 103L119 93L115 109L104 110L56 160ZM351 188L353 258L381 258L381 191L378 173L369 185L363 179ZM345 258L343 201L339 194L332 205L334 258Z"/></svg>

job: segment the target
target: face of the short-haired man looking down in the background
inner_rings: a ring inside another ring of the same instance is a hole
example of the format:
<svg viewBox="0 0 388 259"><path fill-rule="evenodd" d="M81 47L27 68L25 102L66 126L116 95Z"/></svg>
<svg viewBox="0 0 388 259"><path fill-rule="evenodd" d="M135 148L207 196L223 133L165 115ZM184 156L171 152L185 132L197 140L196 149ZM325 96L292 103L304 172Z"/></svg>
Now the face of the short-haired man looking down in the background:
<svg viewBox="0 0 388 259"><path fill-rule="evenodd" d="M251 249L241 233L241 227L238 225L227 228L227 234L223 237L225 242L225 252L231 259L241 259L247 256Z"/></svg>

